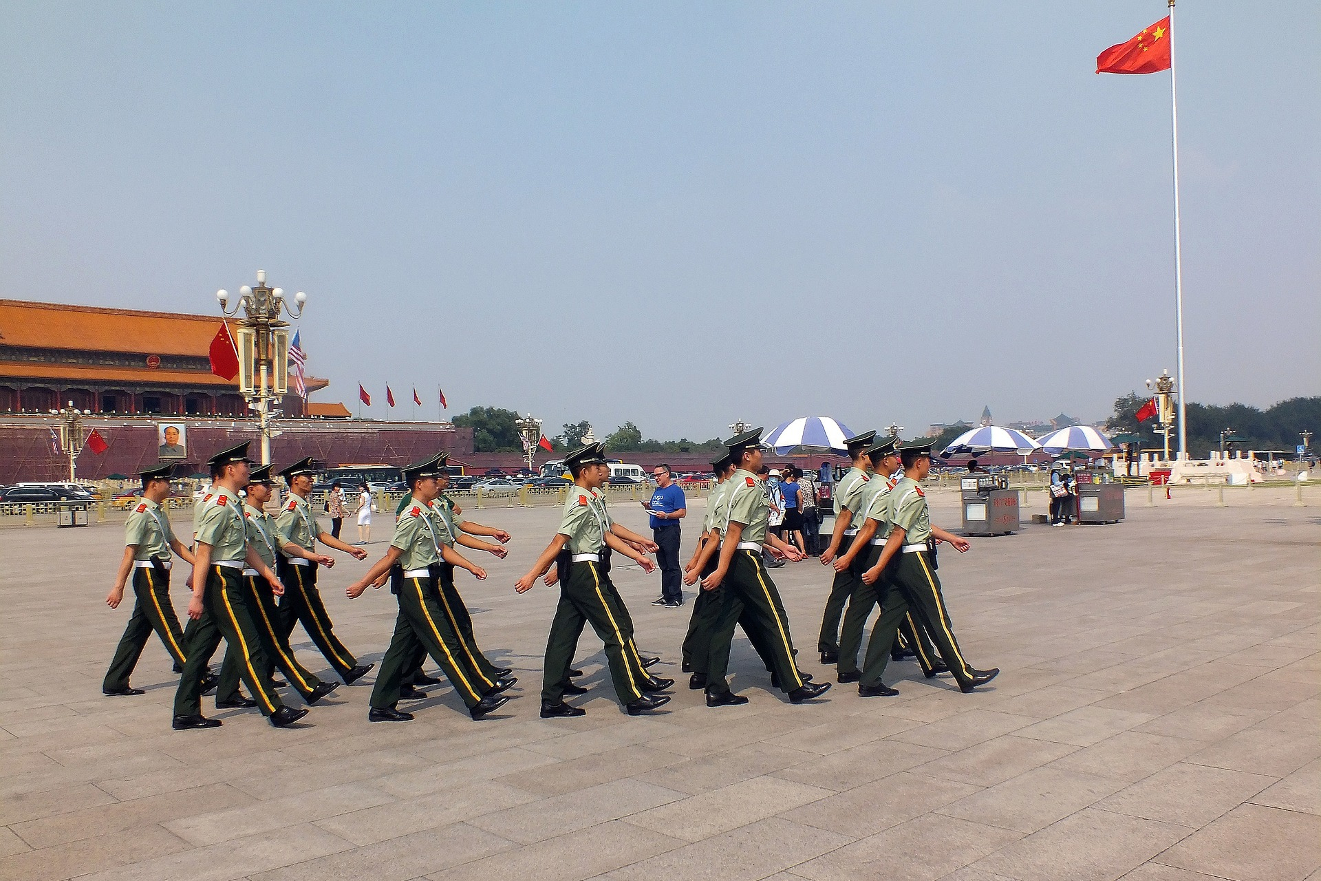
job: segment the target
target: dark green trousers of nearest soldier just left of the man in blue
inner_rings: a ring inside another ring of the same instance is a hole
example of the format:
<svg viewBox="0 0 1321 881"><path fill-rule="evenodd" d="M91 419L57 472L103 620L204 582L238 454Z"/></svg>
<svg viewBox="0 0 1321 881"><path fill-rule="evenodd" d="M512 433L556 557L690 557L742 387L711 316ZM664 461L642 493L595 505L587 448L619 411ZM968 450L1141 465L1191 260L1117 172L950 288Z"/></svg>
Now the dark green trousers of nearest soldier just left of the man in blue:
<svg viewBox="0 0 1321 881"><path fill-rule="evenodd" d="M542 679L542 700L557 704L564 697L564 683L569 680L573 651L587 623L605 646L610 667L610 680L620 703L629 704L642 696L641 683L646 678L637 650L629 650L627 612L616 601L614 585L601 573L598 563L583 561L569 567L569 575L560 584L560 602L555 608L551 633L546 641L546 667Z"/></svg>

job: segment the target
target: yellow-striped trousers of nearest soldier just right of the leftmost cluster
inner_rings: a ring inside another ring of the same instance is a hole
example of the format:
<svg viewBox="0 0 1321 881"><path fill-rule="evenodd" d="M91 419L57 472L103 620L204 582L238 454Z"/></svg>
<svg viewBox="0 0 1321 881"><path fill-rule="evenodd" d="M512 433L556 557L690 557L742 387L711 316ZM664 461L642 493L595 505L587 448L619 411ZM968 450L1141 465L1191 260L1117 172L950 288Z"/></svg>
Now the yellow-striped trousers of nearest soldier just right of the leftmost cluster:
<svg viewBox="0 0 1321 881"><path fill-rule="evenodd" d="M404 678L416 666L419 647L429 654L444 671L466 707L473 707L486 693L489 686L468 662L458 635L449 626L449 618L440 608L435 579L404 579L399 589L399 617L390 638L386 656L380 659L380 674L371 689L371 705L394 707Z"/></svg>

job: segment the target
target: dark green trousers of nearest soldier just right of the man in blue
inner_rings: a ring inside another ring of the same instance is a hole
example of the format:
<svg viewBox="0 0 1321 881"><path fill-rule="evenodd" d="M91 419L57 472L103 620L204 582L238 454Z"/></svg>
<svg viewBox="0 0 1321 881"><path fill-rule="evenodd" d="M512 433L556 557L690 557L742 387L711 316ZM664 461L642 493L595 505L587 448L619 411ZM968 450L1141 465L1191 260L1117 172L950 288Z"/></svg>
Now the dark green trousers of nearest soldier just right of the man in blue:
<svg viewBox="0 0 1321 881"><path fill-rule="evenodd" d="M779 600L775 582L762 565L761 552L738 548L729 563L729 572L717 588L720 593L720 614L711 629L707 655L707 691L724 693L729 691L729 649L734 627L746 613L748 622L768 635L766 651L783 691L793 691L803 684L794 663L794 642L789 634L789 619Z"/></svg>

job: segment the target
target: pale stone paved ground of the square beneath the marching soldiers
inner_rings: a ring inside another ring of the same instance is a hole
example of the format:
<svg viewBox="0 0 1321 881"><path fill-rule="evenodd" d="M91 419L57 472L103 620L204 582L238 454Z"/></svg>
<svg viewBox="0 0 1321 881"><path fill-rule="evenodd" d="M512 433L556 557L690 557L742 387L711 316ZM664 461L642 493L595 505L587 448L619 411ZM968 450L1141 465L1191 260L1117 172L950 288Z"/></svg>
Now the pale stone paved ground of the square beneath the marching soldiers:
<svg viewBox="0 0 1321 881"><path fill-rule="evenodd" d="M128 618L102 605L119 527L4 530L0 877L1321 878L1321 509L1287 490L1213 502L1149 509L1139 491L1119 526L942 553L967 655L1004 671L982 693L905 662L900 697L836 687L794 707L740 642L750 704L707 709L680 687L668 712L630 719L584 637L592 695L572 721L536 715L555 594L510 586L555 514L491 509L481 519L515 532L510 560L461 586L523 696L473 722L437 688L417 721L370 725L370 686L342 687L297 730L221 712L221 729L172 732L156 643L133 679L148 693L103 697ZM938 522L956 510L937 498ZM325 594L378 660L394 601L347 601L358 571L328 573ZM803 667L824 678L827 573L775 579ZM675 660L687 608L650 606L655 576L618 584L642 647Z"/></svg>

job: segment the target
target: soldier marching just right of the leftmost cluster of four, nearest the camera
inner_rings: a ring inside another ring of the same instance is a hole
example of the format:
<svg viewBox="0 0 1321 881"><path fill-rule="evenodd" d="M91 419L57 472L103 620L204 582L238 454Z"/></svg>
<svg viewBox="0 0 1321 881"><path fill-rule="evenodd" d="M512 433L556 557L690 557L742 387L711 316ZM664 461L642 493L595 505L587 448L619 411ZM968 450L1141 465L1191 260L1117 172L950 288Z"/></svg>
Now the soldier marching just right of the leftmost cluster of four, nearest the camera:
<svg viewBox="0 0 1321 881"><path fill-rule="evenodd" d="M400 712L395 704L400 700L403 680L411 672L410 666L419 643L440 664L473 719L482 719L501 708L509 696L499 692L514 684L513 680L501 679L491 687L483 686L485 680L464 654L462 643L441 609L437 581L443 563L468 569L478 580L483 580L486 572L443 544L437 535L431 502L440 493L436 481L439 474L439 456L404 469L413 505L395 523L395 535L386 555L346 590L349 598L354 600L380 576L390 573L390 590L399 598L399 617L371 692L369 721L412 719L412 713Z"/></svg>

